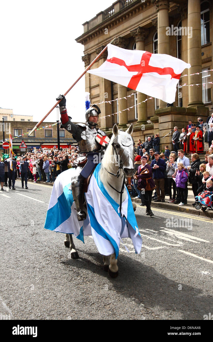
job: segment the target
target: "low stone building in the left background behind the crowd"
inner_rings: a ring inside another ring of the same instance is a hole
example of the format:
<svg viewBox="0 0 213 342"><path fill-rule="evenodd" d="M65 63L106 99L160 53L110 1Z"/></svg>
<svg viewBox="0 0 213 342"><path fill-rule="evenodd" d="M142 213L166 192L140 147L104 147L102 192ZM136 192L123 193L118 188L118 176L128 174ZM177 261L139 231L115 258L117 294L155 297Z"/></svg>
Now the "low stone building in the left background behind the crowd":
<svg viewBox="0 0 213 342"><path fill-rule="evenodd" d="M4 127L0 122L0 149L3 152L1 144L1 142L3 141L3 128L5 139L9 139L9 125L11 127L12 138L14 138L13 151L17 155L22 154L21 149L19 148L22 140L24 140L25 144L27 145L26 152L33 147L36 147L37 149L39 149L40 147L50 149L56 146L57 148L57 126L51 126L54 123L55 122L43 122L38 130L35 130L34 133L28 136L28 134L26 133L29 133L36 126L37 122L6 121ZM42 127L42 125L44 128ZM74 140L72 138L72 135L65 129L60 129L59 135L60 148L68 148L70 145L77 145L76 140Z"/></svg>

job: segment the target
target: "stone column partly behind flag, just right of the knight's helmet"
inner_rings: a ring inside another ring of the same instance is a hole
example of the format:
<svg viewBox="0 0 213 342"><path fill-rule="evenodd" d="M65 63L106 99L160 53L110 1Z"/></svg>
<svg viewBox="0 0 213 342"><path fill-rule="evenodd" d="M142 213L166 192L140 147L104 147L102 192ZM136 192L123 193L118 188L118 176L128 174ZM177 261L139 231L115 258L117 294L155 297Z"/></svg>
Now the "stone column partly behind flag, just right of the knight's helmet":
<svg viewBox="0 0 213 342"><path fill-rule="evenodd" d="M104 46L101 46L95 50L96 54L98 55L102 50L104 49ZM107 51L105 51L101 57L99 58L99 65L102 65L105 60L107 59ZM105 78L100 77L99 81L99 99L101 102L111 101L111 82L109 80L106 80ZM108 131L109 128L112 127L112 104L110 103L101 103L99 105L99 108L101 109L101 115L100 117L100 128L103 131ZM104 118L104 116L110 115Z"/></svg>

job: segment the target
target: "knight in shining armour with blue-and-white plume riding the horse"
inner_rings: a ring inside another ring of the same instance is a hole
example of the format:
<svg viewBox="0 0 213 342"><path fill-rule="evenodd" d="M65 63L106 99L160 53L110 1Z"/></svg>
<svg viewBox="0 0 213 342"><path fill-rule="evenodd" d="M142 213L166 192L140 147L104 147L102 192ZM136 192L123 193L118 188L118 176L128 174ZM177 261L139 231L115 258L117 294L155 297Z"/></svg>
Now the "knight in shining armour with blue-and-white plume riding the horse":
<svg viewBox="0 0 213 342"><path fill-rule="evenodd" d="M56 100L61 100L59 102L61 127L71 133L73 139L78 143L79 155L75 160L76 173L72 177L71 187L72 196L76 204L77 217L79 221L82 221L86 218L86 213L83 210L83 180L97 166L98 157L104 154L109 143L109 138L104 131L98 129L97 121L101 110L97 105L90 106L89 93L87 93L86 98L85 124L75 124L71 121L72 118L67 115L66 98L64 95L59 95Z"/></svg>

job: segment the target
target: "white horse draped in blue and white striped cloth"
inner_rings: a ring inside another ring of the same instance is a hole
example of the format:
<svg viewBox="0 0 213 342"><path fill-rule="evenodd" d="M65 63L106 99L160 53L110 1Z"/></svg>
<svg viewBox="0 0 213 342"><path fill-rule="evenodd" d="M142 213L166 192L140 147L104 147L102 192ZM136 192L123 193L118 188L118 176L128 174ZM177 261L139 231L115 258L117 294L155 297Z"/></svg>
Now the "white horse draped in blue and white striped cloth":
<svg viewBox="0 0 213 342"><path fill-rule="evenodd" d="M68 169L55 180L44 225L46 229L66 233L65 245L68 247L70 241L73 258L78 258L78 253L71 234L83 242L84 236L92 235L99 253L103 254L104 269L111 277L118 275L117 258L122 238L132 239L137 254L142 247L133 204L123 181L134 171L132 131L132 124L125 132L114 125L104 157L94 170L84 194L86 219L78 221L71 190L75 169Z"/></svg>

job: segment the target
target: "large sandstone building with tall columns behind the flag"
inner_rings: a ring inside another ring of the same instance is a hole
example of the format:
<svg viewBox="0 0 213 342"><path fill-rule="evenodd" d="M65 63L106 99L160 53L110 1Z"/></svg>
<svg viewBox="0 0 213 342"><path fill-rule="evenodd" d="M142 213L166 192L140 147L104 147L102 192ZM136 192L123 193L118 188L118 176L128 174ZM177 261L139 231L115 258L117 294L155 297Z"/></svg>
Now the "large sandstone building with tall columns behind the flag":
<svg viewBox="0 0 213 342"><path fill-rule="evenodd" d="M85 67L115 37L113 44L121 48L170 54L191 64L178 83L174 106L169 107L157 98L149 99L147 94L86 73L85 91L92 103L101 103L99 126L109 133L114 123L123 129L133 123L135 142L159 133L164 149L171 141L163 136L174 126L181 132L189 120L196 123L202 117L205 122L213 110L209 83L213 81L212 23L211 0L118 0L85 22L83 34L76 39L84 45ZM92 68L98 68L106 58L107 51ZM195 75L184 76L190 74ZM106 103L111 100L115 101Z"/></svg>

